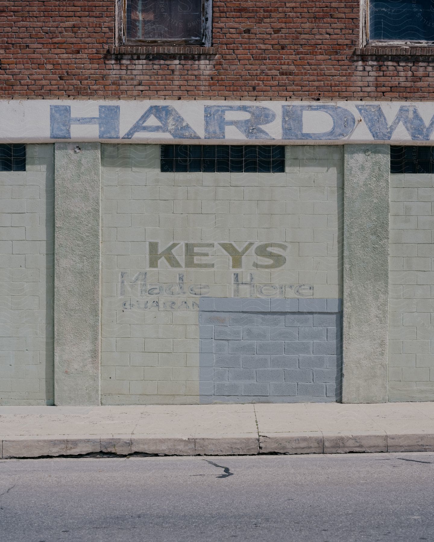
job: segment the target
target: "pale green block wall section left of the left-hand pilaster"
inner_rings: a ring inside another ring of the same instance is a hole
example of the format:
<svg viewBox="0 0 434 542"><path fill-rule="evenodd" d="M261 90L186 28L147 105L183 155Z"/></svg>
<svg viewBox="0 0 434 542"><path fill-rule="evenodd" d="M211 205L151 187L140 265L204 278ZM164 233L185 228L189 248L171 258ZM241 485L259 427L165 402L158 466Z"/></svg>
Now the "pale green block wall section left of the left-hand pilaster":
<svg viewBox="0 0 434 542"><path fill-rule="evenodd" d="M0 404L53 404L53 145L0 173Z"/></svg>

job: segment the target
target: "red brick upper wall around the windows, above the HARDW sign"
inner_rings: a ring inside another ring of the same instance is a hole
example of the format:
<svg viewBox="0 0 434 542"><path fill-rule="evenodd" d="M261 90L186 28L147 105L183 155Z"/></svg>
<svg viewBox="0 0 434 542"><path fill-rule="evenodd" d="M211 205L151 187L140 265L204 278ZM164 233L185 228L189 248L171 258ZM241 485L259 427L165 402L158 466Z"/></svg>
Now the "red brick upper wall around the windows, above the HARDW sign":
<svg viewBox="0 0 434 542"><path fill-rule="evenodd" d="M214 0L204 56L110 53L114 16L114 0L3 0L0 97L434 99L434 49L355 50L359 2Z"/></svg>

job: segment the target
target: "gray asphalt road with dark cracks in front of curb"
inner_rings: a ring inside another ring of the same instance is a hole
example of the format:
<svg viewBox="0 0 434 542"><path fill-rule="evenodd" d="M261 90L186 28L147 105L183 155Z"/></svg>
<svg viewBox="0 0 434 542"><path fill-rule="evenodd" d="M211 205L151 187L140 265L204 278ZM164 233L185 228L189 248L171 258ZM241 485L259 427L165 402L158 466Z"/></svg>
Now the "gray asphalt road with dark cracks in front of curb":
<svg viewBox="0 0 434 542"><path fill-rule="evenodd" d="M434 541L434 454L3 460L0 540Z"/></svg>

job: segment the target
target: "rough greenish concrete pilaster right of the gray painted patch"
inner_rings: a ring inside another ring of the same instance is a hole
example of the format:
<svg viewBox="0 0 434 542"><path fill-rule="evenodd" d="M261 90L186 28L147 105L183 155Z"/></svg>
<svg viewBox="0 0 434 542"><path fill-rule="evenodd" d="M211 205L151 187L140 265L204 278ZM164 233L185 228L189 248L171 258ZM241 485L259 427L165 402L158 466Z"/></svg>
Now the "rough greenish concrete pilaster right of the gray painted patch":
<svg viewBox="0 0 434 542"><path fill-rule="evenodd" d="M344 146L343 403L387 401L390 147Z"/></svg>

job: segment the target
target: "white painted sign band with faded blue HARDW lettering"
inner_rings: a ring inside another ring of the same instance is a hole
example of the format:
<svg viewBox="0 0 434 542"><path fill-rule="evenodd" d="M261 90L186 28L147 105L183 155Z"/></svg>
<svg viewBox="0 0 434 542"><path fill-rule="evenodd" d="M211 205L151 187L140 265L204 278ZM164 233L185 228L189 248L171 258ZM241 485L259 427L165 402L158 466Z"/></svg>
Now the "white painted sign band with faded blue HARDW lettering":
<svg viewBox="0 0 434 542"><path fill-rule="evenodd" d="M434 102L0 100L0 142L432 144Z"/></svg>

